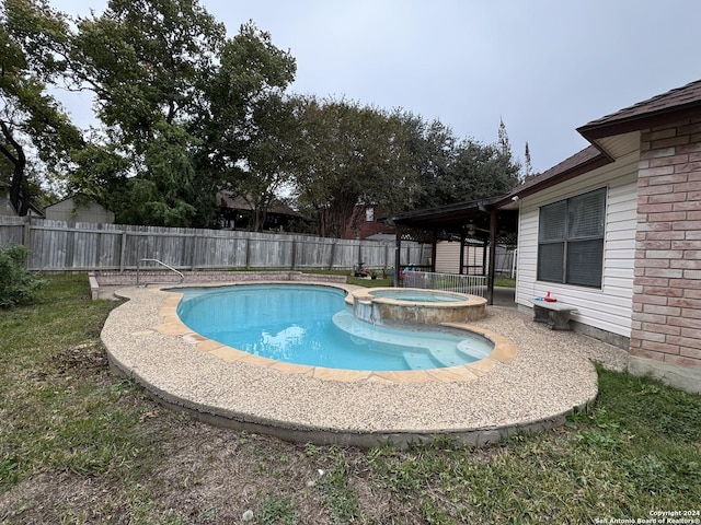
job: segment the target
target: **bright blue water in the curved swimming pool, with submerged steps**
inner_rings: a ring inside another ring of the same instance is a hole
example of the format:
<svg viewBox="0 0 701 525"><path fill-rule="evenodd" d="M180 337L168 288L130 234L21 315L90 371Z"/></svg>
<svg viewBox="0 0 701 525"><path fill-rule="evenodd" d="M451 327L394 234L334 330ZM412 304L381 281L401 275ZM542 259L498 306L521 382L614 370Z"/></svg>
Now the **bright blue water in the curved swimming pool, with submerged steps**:
<svg viewBox="0 0 701 525"><path fill-rule="evenodd" d="M483 359L492 343L471 332L416 331L356 319L345 292L327 287L246 284L182 289L177 307L192 330L289 363L348 370L423 370Z"/></svg>

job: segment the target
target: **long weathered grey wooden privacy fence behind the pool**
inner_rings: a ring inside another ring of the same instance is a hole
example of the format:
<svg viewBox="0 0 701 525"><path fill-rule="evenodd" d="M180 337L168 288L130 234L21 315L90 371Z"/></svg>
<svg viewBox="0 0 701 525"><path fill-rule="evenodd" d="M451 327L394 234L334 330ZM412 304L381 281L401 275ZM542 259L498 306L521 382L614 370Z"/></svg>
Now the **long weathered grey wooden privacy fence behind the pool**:
<svg viewBox="0 0 701 525"><path fill-rule="evenodd" d="M0 245L23 244L31 270L130 270L159 259L187 270L341 269L395 264L394 243L296 234L49 221L0 215ZM401 265L422 265L430 247L402 243Z"/></svg>

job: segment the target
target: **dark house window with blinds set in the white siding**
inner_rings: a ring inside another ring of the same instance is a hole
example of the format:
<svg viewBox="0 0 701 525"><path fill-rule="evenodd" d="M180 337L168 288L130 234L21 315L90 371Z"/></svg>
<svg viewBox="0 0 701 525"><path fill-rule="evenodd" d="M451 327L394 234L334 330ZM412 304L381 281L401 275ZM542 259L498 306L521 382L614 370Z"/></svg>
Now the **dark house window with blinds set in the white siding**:
<svg viewBox="0 0 701 525"><path fill-rule="evenodd" d="M601 288L606 188L543 206L538 280Z"/></svg>

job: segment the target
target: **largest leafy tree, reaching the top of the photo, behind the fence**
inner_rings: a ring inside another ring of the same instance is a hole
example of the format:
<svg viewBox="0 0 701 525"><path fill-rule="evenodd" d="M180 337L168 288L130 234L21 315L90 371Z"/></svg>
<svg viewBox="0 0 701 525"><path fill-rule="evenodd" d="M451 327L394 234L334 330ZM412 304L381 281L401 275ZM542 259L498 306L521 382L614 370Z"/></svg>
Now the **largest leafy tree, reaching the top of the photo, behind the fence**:
<svg viewBox="0 0 701 525"><path fill-rule="evenodd" d="M101 170L79 166L71 182L116 192L120 222L211 223L215 191L198 170L207 155L196 122L225 42L223 25L196 0L111 0L101 15L78 19L71 88L94 94L103 128L79 159Z"/></svg>

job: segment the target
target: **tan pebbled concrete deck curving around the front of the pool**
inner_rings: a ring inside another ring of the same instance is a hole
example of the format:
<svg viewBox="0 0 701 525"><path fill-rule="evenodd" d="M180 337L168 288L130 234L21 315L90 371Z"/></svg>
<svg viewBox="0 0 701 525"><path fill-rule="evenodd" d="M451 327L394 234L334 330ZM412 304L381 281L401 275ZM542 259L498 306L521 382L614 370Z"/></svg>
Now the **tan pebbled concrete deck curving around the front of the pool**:
<svg viewBox="0 0 701 525"><path fill-rule="evenodd" d="M490 306L486 318L466 327L497 334L516 352L501 347L501 355L458 377L451 369L418 372L424 381L406 381L403 373L291 370L251 354L229 359L238 351L172 318L180 294L161 288L117 294L129 301L110 314L102 331L116 371L203 421L298 442L401 446L436 435L496 442L561 424L573 407L597 395L591 360L623 370L628 359L596 339L554 332L515 308Z"/></svg>

